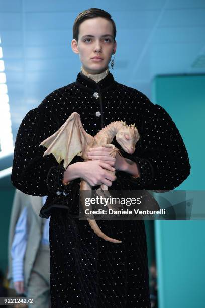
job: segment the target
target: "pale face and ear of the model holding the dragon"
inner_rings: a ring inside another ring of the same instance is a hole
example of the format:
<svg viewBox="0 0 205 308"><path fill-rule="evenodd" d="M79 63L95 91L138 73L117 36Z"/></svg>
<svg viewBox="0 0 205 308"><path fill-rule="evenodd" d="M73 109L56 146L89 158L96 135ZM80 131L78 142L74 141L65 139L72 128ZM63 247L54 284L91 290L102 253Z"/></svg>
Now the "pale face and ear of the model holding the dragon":
<svg viewBox="0 0 205 308"><path fill-rule="evenodd" d="M78 42L72 40L71 47L79 54L82 67L88 73L99 74L106 70L112 54L116 52L111 21L102 17L83 21L79 26Z"/></svg>

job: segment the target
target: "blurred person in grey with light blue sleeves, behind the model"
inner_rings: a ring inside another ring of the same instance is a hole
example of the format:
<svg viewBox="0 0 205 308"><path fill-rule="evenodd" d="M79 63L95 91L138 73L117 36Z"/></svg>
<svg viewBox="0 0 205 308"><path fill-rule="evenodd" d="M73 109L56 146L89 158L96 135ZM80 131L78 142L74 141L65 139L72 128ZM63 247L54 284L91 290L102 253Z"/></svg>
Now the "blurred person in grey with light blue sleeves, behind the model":
<svg viewBox="0 0 205 308"><path fill-rule="evenodd" d="M39 217L46 198L16 190L9 229L10 288L36 308L50 307L49 219Z"/></svg>

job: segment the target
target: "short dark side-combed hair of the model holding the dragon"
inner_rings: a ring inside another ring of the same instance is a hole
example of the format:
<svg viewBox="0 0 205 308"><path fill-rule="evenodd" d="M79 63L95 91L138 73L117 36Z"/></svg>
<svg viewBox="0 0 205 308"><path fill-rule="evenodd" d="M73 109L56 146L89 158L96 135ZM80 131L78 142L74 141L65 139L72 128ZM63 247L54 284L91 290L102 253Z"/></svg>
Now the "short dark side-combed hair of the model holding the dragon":
<svg viewBox="0 0 205 308"><path fill-rule="evenodd" d="M115 25L115 22L112 19L112 16L108 12L101 10L101 9L97 9L97 8L90 8L90 9L85 10L85 11L78 14L78 16L76 17L74 24L73 24L73 39L78 41L80 24L83 21L85 21L86 19L95 18L95 17L103 17L103 18L110 20L112 22L113 39L115 41L117 31L116 31L116 25Z"/></svg>

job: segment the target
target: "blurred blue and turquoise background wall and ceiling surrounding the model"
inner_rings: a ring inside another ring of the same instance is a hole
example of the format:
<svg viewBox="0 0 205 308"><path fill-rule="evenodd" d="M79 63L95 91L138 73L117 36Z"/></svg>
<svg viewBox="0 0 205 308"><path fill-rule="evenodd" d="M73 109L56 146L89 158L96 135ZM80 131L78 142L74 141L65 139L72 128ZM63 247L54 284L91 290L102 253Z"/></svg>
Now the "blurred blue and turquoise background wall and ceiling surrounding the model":
<svg viewBox="0 0 205 308"><path fill-rule="evenodd" d="M111 73L163 106L186 145L191 175L177 190L204 190L204 0L0 0L0 279L7 289L8 233L19 125L53 90L76 80L76 16L95 7L117 27ZM152 307L204 307L204 220L146 221Z"/></svg>

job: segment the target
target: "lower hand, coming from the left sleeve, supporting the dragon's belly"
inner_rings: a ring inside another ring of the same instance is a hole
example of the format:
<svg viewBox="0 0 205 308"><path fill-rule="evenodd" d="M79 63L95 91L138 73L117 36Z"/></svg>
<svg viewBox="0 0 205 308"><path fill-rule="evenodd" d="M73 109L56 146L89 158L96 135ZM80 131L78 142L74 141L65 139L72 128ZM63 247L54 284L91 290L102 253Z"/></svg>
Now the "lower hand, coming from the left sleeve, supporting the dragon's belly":
<svg viewBox="0 0 205 308"><path fill-rule="evenodd" d="M110 164L99 160L79 162L79 177L83 178L91 186L105 184L111 186L116 180L109 171L115 171Z"/></svg>

